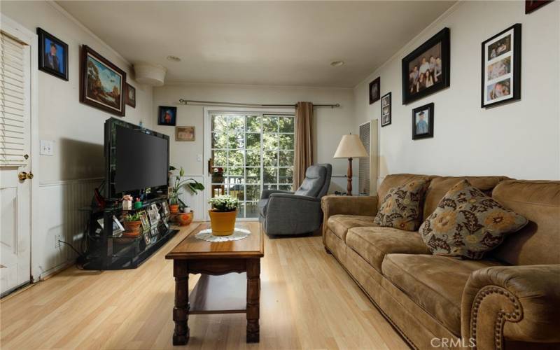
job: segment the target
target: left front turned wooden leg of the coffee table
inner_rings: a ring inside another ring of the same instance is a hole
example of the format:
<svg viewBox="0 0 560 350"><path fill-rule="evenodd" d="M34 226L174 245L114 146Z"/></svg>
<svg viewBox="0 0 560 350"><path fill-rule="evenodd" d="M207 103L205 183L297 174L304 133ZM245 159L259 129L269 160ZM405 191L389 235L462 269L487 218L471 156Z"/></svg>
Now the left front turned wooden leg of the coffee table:
<svg viewBox="0 0 560 350"><path fill-rule="evenodd" d="M185 345L188 342L188 263L186 260L173 260L175 277L175 307L173 308L173 344Z"/></svg>

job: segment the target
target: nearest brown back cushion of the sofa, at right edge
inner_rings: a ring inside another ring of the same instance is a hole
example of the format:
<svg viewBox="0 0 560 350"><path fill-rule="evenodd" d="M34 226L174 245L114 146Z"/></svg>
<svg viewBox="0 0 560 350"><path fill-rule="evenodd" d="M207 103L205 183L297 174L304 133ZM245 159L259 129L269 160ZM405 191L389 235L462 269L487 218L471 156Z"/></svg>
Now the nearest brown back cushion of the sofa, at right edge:
<svg viewBox="0 0 560 350"><path fill-rule="evenodd" d="M492 256L512 265L560 264L560 181L503 181L492 196L529 220Z"/></svg>

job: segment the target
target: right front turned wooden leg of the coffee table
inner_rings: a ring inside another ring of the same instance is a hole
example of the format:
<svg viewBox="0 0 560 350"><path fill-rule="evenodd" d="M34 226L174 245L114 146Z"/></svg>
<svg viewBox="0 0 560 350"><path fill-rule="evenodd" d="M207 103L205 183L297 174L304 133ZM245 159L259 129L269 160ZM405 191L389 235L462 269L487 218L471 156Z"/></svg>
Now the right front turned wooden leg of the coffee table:
<svg viewBox="0 0 560 350"><path fill-rule="evenodd" d="M247 342L259 341L260 259L247 259Z"/></svg>

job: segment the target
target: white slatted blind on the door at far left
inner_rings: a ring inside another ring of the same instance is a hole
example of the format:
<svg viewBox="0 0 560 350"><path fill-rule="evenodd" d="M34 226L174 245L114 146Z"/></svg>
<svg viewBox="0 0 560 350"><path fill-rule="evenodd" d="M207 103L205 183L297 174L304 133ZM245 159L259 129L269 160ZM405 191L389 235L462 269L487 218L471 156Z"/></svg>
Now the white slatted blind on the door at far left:
<svg viewBox="0 0 560 350"><path fill-rule="evenodd" d="M0 165L27 164L29 46L0 32Z"/></svg>

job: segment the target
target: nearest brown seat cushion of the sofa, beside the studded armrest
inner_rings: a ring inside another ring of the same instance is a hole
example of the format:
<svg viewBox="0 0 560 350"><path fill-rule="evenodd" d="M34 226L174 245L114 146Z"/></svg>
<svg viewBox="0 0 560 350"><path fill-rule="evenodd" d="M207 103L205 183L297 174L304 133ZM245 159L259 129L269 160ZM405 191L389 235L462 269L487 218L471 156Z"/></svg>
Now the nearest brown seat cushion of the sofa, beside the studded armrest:
<svg viewBox="0 0 560 350"><path fill-rule="evenodd" d="M461 334L461 295L471 272L500 265L492 260L458 260L437 255L388 254L381 272L445 328Z"/></svg>

